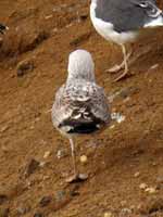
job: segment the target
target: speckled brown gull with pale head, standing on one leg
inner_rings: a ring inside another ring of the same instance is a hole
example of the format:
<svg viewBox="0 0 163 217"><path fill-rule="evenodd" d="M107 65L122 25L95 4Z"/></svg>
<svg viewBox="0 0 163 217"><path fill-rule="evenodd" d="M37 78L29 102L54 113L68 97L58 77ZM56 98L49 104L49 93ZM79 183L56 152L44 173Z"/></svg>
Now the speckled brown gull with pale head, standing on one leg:
<svg viewBox="0 0 163 217"><path fill-rule="evenodd" d="M93 133L110 123L108 99L96 84L89 52L76 50L68 58L66 82L58 90L52 106L53 126L68 138L74 174L66 181L83 179L75 163L74 136Z"/></svg>

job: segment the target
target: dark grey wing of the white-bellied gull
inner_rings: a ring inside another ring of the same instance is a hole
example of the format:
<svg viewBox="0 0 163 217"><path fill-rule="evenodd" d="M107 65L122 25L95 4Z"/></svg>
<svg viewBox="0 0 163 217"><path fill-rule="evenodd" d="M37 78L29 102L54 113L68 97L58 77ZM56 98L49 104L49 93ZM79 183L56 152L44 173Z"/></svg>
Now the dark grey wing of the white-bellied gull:
<svg viewBox="0 0 163 217"><path fill-rule="evenodd" d="M118 31L143 28L162 14L154 0L98 0L96 16Z"/></svg>

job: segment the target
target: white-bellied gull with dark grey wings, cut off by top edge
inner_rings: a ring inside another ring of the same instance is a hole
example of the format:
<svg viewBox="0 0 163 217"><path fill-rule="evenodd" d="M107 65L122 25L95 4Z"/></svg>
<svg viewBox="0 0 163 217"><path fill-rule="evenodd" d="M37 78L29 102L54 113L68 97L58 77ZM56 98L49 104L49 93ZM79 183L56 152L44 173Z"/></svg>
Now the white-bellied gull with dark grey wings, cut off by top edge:
<svg viewBox="0 0 163 217"><path fill-rule="evenodd" d="M128 73L126 43L134 42L142 33L152 27L163 26L163 12L155 0L91 0L90 17L96 30L106 40L121 46L124 60L109 72L124 68L116 78L120 80Z"/></svg>

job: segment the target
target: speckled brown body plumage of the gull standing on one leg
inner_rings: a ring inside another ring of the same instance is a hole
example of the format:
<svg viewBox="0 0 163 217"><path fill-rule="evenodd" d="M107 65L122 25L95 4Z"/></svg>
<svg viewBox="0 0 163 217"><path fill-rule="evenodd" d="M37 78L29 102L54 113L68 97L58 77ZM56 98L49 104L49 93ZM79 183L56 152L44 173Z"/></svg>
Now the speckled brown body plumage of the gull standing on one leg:
<svg viewBox="0 0 163 217"><path fill-rule="evenodd" d="M95 82L75 80L63 85L55 95L52 107L53 125L63 133L75 133L73 128L76 126L87 124L92 126L92 123L100 129L110 122L106 102L103 89ZM80 131L80 133L85 132L87 133L88 130Z"/></svg>

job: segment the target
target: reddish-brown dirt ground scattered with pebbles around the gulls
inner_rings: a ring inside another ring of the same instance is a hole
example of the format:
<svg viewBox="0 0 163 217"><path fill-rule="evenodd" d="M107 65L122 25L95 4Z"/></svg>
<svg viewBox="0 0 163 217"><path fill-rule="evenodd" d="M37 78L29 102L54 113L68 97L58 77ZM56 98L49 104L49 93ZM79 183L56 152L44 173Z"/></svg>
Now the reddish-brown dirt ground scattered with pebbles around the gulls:
<svg viewBox="0 0 163 217"><path fill-rule="evenodd" d="M95 31L86 0L1 0L0 11L10 26L0 43L0 216L163 216L163 29L135 44L146 54L130 77L113 82L105 69L121 51ZM89 178L67 184L70 145L53 129L50 108L77 48L92 53L105 93L121 92L111 107L126 119L96 141L77 141L77 164ZM24 63L32 68L18 76ZM58 158L59 150L67 155ZM41 166L28 171L32 159Z"/></svg>

